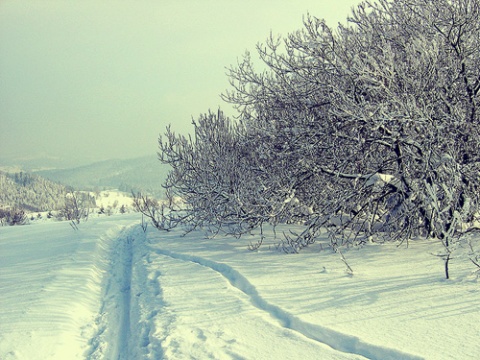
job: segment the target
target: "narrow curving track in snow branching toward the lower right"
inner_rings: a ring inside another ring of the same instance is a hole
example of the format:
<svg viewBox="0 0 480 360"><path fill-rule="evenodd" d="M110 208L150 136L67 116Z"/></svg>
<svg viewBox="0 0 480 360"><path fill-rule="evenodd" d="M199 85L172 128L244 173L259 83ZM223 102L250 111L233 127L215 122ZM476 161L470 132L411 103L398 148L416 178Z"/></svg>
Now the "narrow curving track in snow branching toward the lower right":
<svg viewBox="0 0 480 360"><path fill-rule="evenodd" d="M364 356L373 360L420 360L422 357L408 354L396 349L373 345L362 341L360 338L328 329L321 325L305 322L298 317L288 313L279 306L270 304L263 299L247 278L232 267L208 260L202 257L179 254L164 249L154 249L157 254L168 256L173 259L192 262L216 271L222 275L233 287L237 288L250 298L250 302L256 308L267 312L280 324L290 330L296 331L305 337L318 341L331 348L344 353Z"/></svg>

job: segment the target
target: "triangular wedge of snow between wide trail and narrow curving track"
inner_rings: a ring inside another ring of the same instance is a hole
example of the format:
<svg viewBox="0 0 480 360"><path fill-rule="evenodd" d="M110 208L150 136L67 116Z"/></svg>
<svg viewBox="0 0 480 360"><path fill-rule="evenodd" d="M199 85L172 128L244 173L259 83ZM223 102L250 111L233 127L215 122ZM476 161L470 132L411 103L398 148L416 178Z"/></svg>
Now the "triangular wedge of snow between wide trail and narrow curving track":
<svg viewBox="0 0 480 360"><path fill-rule="evenodd" d="M163 329L158 338L164 359L365 359L280 326L220 273L157 253L157 239L146 244L147 269L160 275L162 303L154 324Z"/></svg>

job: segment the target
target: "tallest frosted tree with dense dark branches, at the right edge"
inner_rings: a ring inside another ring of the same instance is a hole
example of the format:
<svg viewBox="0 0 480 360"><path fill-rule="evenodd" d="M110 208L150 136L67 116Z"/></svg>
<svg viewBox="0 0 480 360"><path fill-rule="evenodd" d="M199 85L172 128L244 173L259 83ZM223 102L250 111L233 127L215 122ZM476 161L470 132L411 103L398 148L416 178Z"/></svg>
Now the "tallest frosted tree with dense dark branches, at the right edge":
<svg viewBox="0 0 480 360"><path fill-rule="evenodd" d="M307 17L283 47L258 47L267 71L249 57L231 68L224 97L272 158L333 190L314 204L319 224L348 215L362 231L382 219L401 237L441 238L477 204L479 24L477 0L365 2L336 30ZM446 199L441 220L432 202Z"/></svg>

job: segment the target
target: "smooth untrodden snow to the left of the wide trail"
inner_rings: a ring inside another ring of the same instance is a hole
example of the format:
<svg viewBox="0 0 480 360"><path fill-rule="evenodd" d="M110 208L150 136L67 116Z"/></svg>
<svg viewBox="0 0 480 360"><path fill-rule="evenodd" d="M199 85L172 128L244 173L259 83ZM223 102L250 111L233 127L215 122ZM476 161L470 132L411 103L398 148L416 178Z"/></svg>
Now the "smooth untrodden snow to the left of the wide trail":
<svg viewBox="0 0 480 360"><path fill-rule="evenodd" d="M0 228L0 359L81 359L109 247L132 218Z"/></svg>

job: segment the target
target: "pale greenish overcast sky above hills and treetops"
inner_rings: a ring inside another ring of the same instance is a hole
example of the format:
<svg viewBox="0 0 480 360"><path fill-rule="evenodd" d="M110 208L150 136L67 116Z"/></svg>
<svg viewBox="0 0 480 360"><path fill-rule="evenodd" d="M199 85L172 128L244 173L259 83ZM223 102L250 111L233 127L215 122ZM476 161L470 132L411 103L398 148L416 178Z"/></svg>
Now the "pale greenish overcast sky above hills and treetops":
<svg viewBox="0 0 480 360"><path fill-rule="evenodd" d="M358 0L0 1L0 158L155 154L219 106L225 68ZM0 164L1 165L1 164Z"/></svg>

